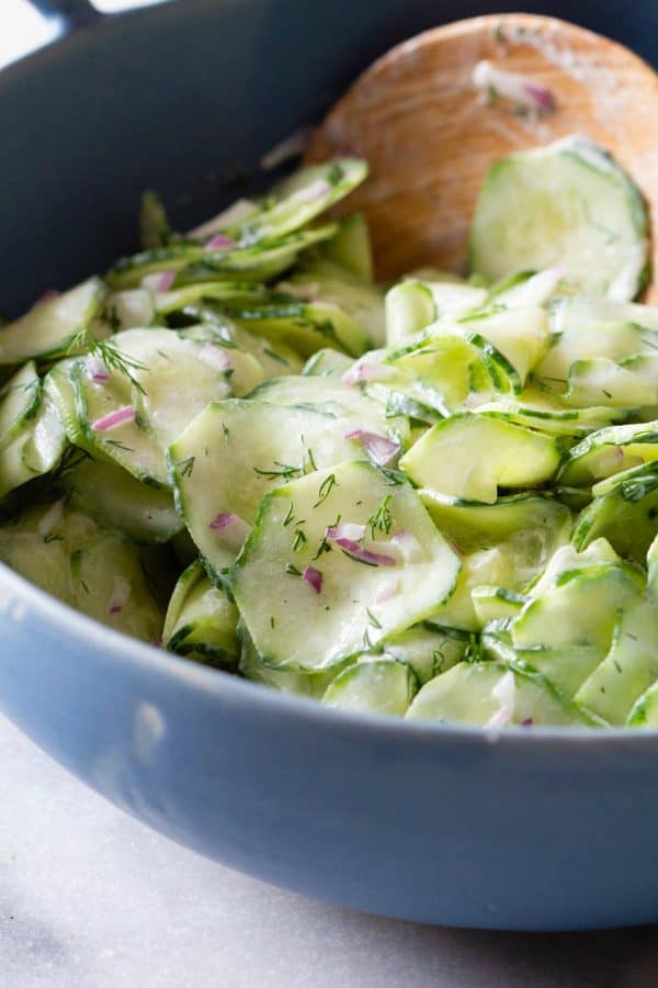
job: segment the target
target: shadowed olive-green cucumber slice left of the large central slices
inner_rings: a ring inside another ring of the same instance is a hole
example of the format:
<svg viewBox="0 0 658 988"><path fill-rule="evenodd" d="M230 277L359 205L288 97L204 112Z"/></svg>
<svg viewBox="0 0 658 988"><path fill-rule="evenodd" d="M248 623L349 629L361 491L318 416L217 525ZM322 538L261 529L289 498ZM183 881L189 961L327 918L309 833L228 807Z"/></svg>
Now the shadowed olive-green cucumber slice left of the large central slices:
<svg viewBox="0 0 658 988"><path fill-rule="evenodd" d="M169 491L143 484L126 470L83 459L63 476L71 507L136 542L168 542L184 528Z"/></svg>

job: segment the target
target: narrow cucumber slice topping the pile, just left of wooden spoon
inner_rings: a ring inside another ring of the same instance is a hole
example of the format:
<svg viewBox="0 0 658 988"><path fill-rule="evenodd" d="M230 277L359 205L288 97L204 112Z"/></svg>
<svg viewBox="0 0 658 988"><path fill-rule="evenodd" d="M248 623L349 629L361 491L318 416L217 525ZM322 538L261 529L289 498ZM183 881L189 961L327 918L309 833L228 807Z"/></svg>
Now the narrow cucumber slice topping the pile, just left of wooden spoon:
<svg viewBox="0 0 658 988"><path fill-rule="evenodd" d="M326 165L300 168L274 187L261 210L224 229L243 244L285 236L343 199L366 176L367 164L360 158L336 158Z"/></svg>

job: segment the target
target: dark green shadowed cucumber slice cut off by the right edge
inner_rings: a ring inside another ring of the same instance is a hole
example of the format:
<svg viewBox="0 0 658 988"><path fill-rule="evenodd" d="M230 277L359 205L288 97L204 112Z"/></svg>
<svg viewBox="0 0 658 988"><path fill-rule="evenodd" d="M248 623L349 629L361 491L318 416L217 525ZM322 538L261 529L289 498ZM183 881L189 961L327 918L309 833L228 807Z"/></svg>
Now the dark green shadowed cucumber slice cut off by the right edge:
<svg viewBox="0 0 658 988"><path fill-rule="evenodd" d="M643 463L602 481L594 501L576 525L574 546L585 549L604 538L620 555L644 563L656 536L658 517L658 463Z"/></svg>

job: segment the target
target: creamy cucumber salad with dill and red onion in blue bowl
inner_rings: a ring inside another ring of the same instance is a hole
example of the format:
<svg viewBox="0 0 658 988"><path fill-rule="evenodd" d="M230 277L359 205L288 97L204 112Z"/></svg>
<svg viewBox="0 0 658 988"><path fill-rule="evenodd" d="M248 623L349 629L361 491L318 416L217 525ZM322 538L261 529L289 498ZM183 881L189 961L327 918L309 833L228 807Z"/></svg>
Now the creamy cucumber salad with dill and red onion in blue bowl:
<svg viewBox="0 0 658 988"><path fill-rule="evenodd" d="M581 137L512 155L469 277L381 285L363 216L326 215L366 172L188 235L147 193L140 254L0 329L0 560L332 707L658 725L642 195Z"/></svg>

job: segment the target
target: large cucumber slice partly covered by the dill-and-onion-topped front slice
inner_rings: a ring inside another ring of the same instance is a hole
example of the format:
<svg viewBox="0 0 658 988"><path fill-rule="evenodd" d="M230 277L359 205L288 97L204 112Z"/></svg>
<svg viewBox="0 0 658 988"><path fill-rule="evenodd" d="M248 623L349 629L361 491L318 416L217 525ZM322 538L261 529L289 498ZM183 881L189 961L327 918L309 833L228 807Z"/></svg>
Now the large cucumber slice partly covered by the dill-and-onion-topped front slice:
<svg viewBox="0 0 658 988"><path fill-rule="evenodd" d="M227 546L235 558L261 497L274 486L360 459L362 448L345 438L354 425L309 407L256 401L208 405L171 446L169 459L179 510L209 564L224 569ZM315 501L328 497L334 482L322 473ZM239 520L215 521L228 516ZM294 534L292 516L288 525Z"/></svg>

